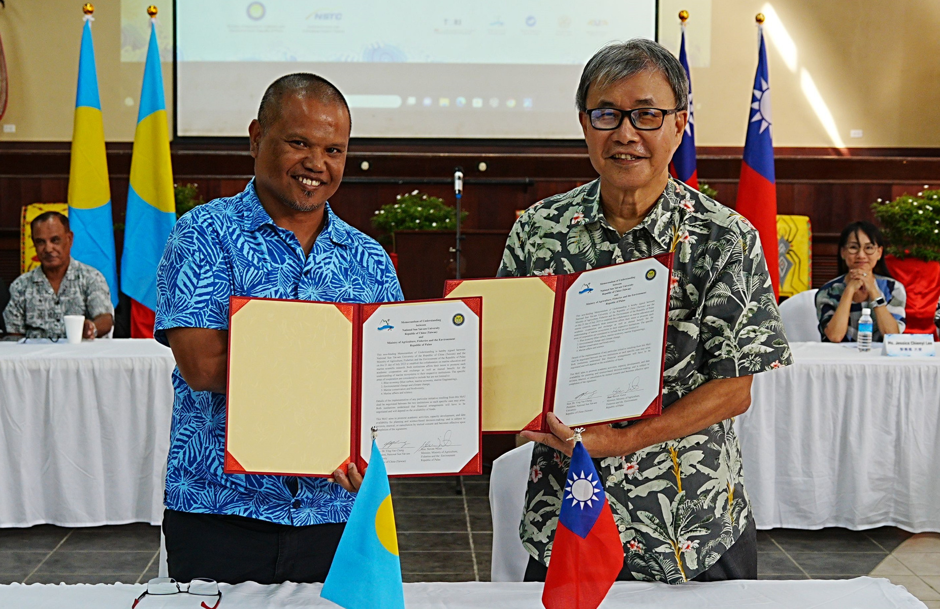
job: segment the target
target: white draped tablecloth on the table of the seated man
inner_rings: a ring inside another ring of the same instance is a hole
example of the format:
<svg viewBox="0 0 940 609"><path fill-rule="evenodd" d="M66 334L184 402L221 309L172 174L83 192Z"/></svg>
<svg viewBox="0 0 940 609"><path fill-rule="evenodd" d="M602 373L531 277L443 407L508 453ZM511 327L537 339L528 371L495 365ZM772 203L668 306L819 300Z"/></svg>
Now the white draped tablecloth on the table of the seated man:
<svg viewBox="0 0 940 609"><path fill-rule="evenodd" d="M155 340L0 342L0 526L160 523L174 366Z"/></svg>

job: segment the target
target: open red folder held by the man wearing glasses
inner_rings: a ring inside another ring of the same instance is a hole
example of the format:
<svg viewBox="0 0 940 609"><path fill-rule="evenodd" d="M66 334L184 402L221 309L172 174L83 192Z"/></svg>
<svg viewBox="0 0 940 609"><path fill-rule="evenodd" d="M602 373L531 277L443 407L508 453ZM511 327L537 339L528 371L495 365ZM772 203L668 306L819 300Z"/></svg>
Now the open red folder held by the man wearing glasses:
<svg viewBox="0 0 940 609"><path fill-rule="evenodd" d="M483 432L662 413L672 254L581 273L446 282L481 296Z"/></svg>

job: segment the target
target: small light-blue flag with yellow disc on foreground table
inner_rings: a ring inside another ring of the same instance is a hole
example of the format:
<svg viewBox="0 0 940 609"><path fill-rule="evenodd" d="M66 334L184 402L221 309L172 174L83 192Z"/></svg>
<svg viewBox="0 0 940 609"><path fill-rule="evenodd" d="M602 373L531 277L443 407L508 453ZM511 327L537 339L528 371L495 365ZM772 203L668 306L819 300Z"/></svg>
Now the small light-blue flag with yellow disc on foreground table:
<svg viewBox="0 0 940 609"><path fill-rule="evenodd" d="M395 511L375 440L320 596L345 609L404 609Z"/></svg>

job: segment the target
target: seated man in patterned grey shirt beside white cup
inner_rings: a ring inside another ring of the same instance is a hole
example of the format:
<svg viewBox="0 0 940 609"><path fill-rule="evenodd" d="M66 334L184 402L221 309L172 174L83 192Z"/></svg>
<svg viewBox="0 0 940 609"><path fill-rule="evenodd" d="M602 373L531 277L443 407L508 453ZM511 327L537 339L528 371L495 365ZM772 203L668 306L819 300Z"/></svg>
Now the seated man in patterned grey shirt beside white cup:
<svg viewBox="0 0 940 609"><path fill-rule="evenodd" d="M9 287L3 317L7 332L27 338L65 337L65 316L84 315L83 338L104 336L114 325L111 290L97 269L71 258L69 218L40 213L30 223L39 266Z"/></svg>

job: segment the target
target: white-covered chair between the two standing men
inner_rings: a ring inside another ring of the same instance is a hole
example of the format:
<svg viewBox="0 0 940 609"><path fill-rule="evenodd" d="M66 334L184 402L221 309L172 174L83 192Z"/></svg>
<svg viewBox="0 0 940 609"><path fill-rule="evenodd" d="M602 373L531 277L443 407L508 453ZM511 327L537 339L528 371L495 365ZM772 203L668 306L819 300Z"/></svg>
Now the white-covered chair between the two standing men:
<svg viewBox="0 0 940 609"><path fill-rule="evenodd" d="M521 582L529 554L519 539L519 523L525 512L525 485L532 463L531 442L513 448L493 461L490 475L490 509L493 512L493 582Z"/></svg>

